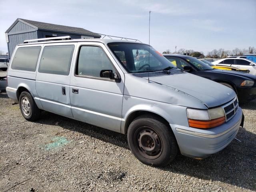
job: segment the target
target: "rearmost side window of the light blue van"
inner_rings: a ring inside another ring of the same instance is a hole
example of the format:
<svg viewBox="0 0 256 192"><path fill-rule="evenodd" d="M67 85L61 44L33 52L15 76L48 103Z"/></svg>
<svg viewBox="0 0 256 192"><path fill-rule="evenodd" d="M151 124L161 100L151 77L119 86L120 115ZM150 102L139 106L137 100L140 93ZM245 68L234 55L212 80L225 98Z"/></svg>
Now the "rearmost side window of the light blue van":
<svg viewBox="0 0 256 192"><path fill-rule="evenodd" d="M11 68L35 72L40 51L41 46L19 47L13 57Z"/></svg>

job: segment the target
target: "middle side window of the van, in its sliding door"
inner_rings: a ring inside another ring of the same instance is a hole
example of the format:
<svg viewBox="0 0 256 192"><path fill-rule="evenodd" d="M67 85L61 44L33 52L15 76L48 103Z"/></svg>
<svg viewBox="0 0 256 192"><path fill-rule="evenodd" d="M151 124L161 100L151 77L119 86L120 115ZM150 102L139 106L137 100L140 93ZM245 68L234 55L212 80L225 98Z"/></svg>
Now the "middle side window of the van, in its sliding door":
<svg viewBox="0 0 256 192"><path fill-rule="evenodd" d="M38 72L68 75L74 48L74 45L45 46Z"/></svg>

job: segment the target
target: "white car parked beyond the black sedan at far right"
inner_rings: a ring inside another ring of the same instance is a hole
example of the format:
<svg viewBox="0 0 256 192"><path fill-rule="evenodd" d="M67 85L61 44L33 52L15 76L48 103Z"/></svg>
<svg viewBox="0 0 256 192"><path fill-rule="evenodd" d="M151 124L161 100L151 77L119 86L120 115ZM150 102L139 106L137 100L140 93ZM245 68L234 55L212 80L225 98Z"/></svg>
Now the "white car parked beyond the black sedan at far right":
<svg viewBox="0 0 256 192"><path fill-rule="evenodd" d="M232 66L250 70L250 74L256 75L256 63L244 58L224 58L212 62L214 65Z"/></svg>

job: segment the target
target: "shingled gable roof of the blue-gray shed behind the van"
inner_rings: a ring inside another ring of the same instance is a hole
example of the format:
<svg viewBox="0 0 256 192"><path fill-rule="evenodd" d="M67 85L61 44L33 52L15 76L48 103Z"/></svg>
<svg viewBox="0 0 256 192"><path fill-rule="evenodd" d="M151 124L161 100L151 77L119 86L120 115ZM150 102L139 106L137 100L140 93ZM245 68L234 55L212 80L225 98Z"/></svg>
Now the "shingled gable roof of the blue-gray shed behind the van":
<svg viewBox="0 0 256 192"><path fill-rule="evenodd" d="M72 33L78 33L78 34L84 34L89 36L96 36L101 37L99 34L91 32L89 30L86 30L84 28L78 28L78 27L70 27L70 26L64 26L64 25L56 25L51 23L44 23L44 22L38 22L38 21L32 21L32 20L26 20L18 18L8 30L6 30L6 33L18 22L24 22L25 24L30 24L30 26L34 26L35 28L43 29L43 30L54 30L54 31L61 31L61 32L72 32Z"/></svg>

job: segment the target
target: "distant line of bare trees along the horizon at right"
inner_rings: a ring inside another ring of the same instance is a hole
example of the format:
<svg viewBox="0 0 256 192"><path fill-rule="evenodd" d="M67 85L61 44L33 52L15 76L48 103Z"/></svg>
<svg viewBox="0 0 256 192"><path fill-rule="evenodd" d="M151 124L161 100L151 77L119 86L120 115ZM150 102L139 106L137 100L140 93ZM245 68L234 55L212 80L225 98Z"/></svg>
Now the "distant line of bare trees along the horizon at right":
<svg viewBox="0 0 256 192"><path fill-rule="evenodd" d="M228 56L241 56L244 54L256 54L256 48L250 47L250 48L244 48L244 49L239 49L239 48L234 48L233 50L224 50L223 48L220 48L219 50L212 50L208 52L208 54L205 56L204 52L202 51L194 51L192 49L184 49L181 48L176 52L170 52L170 50L166 50L163 52L163 54L188 54L193 57L208 57L208 58L226 58Z"/></svg>

